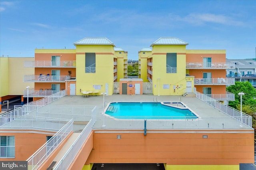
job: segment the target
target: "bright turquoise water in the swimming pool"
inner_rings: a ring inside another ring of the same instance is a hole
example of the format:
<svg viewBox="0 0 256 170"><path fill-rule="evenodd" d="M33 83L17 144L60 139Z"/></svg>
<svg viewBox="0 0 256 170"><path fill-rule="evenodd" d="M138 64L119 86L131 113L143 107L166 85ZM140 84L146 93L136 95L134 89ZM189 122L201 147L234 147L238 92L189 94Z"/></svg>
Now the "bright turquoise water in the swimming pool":
<svg viewBox="0 0 256 170"><path fill-rule="evenodd" d="M111 110L111 111L109 111ZM186 117L197 118L188 108L179 109L171 106L165 106L161 103L112 103L108 106L106 114L113 117L122 117L127 119L186 119Z"/></svg>

